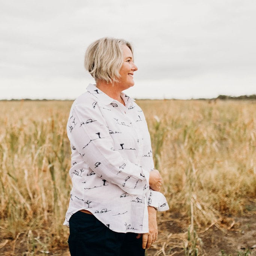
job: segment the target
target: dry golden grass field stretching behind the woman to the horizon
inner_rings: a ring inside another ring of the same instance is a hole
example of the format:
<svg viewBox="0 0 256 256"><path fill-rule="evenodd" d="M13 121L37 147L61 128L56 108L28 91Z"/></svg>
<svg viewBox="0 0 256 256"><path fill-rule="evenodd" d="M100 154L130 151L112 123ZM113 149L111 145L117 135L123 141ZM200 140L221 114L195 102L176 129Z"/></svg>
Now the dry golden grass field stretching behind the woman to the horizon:
<svg viewBox="0 0 256 256"><path fill-rule="evenodd" d="M256 101L136 102L170 206L147 255L256 255ZM68 255L71 104L0 102L0 255Z"/></svg>

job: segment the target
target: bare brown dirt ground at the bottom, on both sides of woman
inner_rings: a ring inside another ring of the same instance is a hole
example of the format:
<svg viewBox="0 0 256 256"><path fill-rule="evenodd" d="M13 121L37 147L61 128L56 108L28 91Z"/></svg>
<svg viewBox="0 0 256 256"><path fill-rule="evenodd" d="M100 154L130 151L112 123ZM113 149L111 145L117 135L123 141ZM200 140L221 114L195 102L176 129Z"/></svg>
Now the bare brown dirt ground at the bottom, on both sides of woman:
<svg viewBox="0 0 256 256"><path fill-rule="evenodd" d="M185 255L187 224L179 214L172 214L168 221L159 221L158 242L146 255ZM256 255L256 211L240 217L223 217L223 220L198 234L198 255ZM0 255L62 255L68 256L67 246L52 249L51 252L26 252L22 235L16 240L0 238Z"/></svg>

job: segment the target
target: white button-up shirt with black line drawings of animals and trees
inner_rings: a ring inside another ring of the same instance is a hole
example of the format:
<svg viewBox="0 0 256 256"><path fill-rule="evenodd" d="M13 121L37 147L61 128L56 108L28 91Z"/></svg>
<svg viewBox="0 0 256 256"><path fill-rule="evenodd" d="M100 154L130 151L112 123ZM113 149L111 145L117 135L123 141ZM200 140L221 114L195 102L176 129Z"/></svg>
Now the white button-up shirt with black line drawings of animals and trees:
<svg viewBox="0 0 256 256"><path fill-rule="evenodd" d="M154 163L144 114L134 99L121 97L125 106L89 84L73 102L67 122L73 187L64 225L86 209L115 232L147 233L147 206L169 209L162 193L149 188Z"/></svg>

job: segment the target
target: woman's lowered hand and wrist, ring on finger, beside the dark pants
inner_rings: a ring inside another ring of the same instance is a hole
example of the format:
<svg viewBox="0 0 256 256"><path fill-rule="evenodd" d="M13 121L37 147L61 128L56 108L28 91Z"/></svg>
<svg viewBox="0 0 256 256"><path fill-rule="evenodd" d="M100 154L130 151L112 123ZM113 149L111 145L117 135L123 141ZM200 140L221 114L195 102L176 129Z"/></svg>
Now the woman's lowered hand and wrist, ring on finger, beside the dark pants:
<svg viewBox="0 0 256 256"><path fill-rule="evenodd" d="M157 240L157 223L156 223L156 210L154 207L148 206L148 233L138 234L136 238L142 235L142 248L149 248L154 241Z"/></svg>

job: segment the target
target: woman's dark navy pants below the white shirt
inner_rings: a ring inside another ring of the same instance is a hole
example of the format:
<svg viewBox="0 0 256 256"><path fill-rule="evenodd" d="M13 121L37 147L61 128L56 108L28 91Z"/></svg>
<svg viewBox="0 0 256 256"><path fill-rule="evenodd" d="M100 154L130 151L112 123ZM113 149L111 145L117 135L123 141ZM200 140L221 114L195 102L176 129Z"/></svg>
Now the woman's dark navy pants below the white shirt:
<svg viewBox="0 0 256 256"><path fill-rule="evenodd" d="M71 256L144 256L142 238L136 233L110 230L91 214L81 211L69 220L69 250Z"/></svg>

